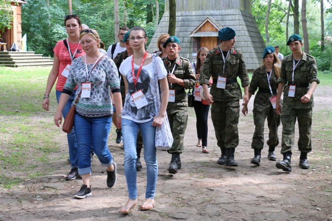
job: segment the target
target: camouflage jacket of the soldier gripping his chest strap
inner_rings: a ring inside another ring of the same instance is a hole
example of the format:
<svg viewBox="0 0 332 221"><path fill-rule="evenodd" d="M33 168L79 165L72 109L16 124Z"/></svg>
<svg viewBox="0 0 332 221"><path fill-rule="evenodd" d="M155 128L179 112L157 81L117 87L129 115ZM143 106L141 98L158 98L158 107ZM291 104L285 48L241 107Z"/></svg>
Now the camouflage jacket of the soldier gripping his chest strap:
<svg viewBox="0 0 332 221"><path fill-rule="evenodd" d="M182 90L182 89L193 88L195 86L196 84L195 71L193 70L192 65L188 59L178 56L173 65L171 64L170 60L167 57L163 58L162 61L168 73L171 73L174 68L174 65L176 65L173 75L175 75L175 77L179 79L184 80L184 87L179 84L172 84L171 87L171 84L169 83L170 89ZM182 100L186 97L186 95L187 95L186 92L176 94L175 100L176 101Z"/></svg>

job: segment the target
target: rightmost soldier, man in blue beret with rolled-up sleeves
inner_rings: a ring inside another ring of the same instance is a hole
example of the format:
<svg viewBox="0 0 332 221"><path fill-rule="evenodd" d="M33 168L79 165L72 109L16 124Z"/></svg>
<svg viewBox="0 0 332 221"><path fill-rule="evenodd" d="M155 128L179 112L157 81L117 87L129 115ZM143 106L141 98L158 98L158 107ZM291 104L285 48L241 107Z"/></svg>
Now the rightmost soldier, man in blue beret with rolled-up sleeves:
<svg viewBox="0 0 332 221"><path fill-rule="evenodd" d="M281 113L282 138L281 154L283 160L276 163L276 167L284 171L292 171L291 156L294 144L294 127L296 119L299 128L298 150L299 165L303 169L310 167L307 153L311 152L311 124L314 107L313 93L319 84L317 78L317 64L313 56L302 51L302 39L293 34L287 41L291 55L284 57L281 62L280 78L278 80L277 107ZM283 107L278 104L283 90Z"/></svg>

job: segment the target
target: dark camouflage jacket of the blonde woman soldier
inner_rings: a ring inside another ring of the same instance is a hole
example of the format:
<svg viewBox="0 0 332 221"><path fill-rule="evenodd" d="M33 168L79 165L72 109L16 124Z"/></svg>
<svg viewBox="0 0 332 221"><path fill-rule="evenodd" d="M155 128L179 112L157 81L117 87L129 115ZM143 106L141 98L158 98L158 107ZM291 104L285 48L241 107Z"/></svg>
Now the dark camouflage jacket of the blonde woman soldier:
<svg viewBox="0 0 332 221"><path fill-rule="evenodd" d="M273 96L277 93L278 88L278 77L275 75L274 68L272 69L270 76L270 85L272 89ZM258 92L254 100L254 109L257 111L264 111L269 108L271 105L270 97L272 96L268 76L265 70L265 66L257 67L252 73L252 79L249 85L249 92L255 94L255 91L258 88Z"/></svg>

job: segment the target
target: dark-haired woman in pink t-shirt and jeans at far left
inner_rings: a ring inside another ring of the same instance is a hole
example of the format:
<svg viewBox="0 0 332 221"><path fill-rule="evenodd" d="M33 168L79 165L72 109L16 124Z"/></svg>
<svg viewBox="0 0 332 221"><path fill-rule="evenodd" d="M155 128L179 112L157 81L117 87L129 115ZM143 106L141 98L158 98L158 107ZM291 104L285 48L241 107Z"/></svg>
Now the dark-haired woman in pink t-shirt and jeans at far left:
<svg viewBox="0 0 332 221"><path fill-rule="evenodd" d="M49 111L50 105L50 93L54 86L54 83L57 81L56 84L56 97L59 103L60 95L63 90L64 83L67 80L70 64L72 61L84 55L84 51L82 50L81 42L80 42L80 31L81 27L81 20L77 15L66 15L64 17L64 26L66 28L68 37L64 40L58 41L55 45L54 51L54 61L53 67L49 75L48 83L46 85L44 100L43 100L43 109ZM62 111L63 117L66 117L70 107L72 106L74 96L75 96L76 89L74 90L73 94L70 96L66 106ZM66 176L66 180L75 180L79 177L78 174L78 161L77 161L77 141L74 128L70 133L67 134L68 140L68 147L69 147L69 159L70 164L72 164L72 169L70 170L69 174Z"/></svg>

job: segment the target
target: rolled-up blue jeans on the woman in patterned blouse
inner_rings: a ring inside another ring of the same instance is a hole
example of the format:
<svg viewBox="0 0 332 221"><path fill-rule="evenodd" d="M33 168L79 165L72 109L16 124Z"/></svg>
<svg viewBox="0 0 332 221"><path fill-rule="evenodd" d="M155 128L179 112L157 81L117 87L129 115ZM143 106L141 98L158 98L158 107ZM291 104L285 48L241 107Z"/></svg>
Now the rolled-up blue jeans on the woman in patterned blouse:
<svg viewBox="0 0 332 221"><path fill-rule="evenodd" d="M83 117L75 113L74 127L76 128L78 173L89 174L91 170L91 145L103 166L110 166L113 157L107 147L108 134L111 129L112 117Z"/></svg>

